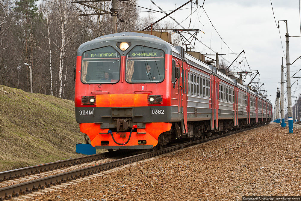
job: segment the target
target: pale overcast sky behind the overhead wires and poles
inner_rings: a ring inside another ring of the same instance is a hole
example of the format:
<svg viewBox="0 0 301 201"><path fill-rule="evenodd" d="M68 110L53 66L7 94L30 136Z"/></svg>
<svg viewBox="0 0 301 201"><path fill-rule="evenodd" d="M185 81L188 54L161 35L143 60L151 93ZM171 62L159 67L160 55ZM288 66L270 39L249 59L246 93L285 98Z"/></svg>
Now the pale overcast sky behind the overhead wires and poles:
<svg viewBox="0 0 301 201"><path fill-rule="evenodd" d="M187 2L186 0L152 1L167 13ZM274 105L277 83L280 82L281 79L282 57L286 54L286 23L279 22L280 29L278 30L278 20L287 20L288 33L290 36L300 36L299 1L272 0L275 19L271 0L206 0L204 5L203 2L203 0L198 0L199 6L196 8L196 0L193 0L192 4L189 3L183 7L186 9L176 11L171 16L184 28L200 29L204 32L203 34L201 32L198 33L197 38L213 51L200 42L196 42L195 51L208 54L214 54L214 52L227 54L222 55L222 57L225 58L226 61L232 63L237 55L242 52L242 50L245 50L246 59L250 68L254 71L259 71L260 82L264 83L267 94L272 95L267 98L270 99ZM139 5L153 10L159 10L159 8L149 0L140 0ZM141 8L141 10L143 11L146 9ZM190 19L189 16L191 12L193 12L193 14ZM141 12L141 14L145 15L145 12ZM160 19L164 14L154 13L154 16L156 19ZM186 17L188 18L182 22ZM164 20L173 21L169 17ZM217 32L212 27L210 21ZM178 26L178 28L181 27ZM219 37L218 33L222 39ZM224 42L222 42L222 40ZM292 63L301 55L301 37L290 37L289 41L290 63ZM237 54L229 54L233 53L232 51ZM234 68L232 69L241 71L240 69L244 70L246 68L246 70L249 70L247 62L243 57L244 54L241 54L241 57L232 64L234 65ZM239 62L241 62L241 64L239 64ZM228 63L228 65L230 63ZM284 67L286 67L285 58ZM291 76L300 68L301 59L291 65ZM284 72L286 72L286 68ZM301 77L301 71L297 73L295 77ZM247 78L245 84L249 83L248 80L250 81L250 77ZM256 82L258 81L257 79L254 80ZM292 78L291 83L293 84L296 80L297 79ZM298 84L295 83L292 86L292 90L296 88L299 89L296 90L296 92L292 92L292 96L299 96L301 93L301 78ZM286 90L286 83L284 88ZM296 100L294 97L292 99Z"/></svg>

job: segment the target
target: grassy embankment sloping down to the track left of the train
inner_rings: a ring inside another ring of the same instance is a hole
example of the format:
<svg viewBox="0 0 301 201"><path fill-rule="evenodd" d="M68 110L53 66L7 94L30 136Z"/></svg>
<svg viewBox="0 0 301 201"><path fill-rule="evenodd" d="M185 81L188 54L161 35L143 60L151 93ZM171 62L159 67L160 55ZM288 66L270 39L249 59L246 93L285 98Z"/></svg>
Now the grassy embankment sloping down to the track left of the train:
<svg viewBox="0 0 301 201"><path fill-rule="evenodd" d="M78 157L74 102L0 85L0 171Z"/></svg>

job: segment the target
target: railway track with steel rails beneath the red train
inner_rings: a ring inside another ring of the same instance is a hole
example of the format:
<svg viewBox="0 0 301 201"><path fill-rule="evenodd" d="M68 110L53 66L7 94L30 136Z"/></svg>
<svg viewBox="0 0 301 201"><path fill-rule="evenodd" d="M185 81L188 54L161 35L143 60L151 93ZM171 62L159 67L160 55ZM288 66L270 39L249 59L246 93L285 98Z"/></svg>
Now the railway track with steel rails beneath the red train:
<svg viewBox="0 0 301 201"><path fill-rule="evenodd" d="M261 126L264 125L259 125L257 127ZM148 150L133 152L132 150L125 153L122 150L117 150L0 172L0 201L17 197L26 199L41 193L54 191L60 187L70 184L74 185L81 181L90 179L91 177L100 176L102 172L104 173L105 171L120 169L122 166L144 159L149 159L158 155L163 155L257 127L237 130L202 140L170 146L152 152L148 152Z"/></svg>

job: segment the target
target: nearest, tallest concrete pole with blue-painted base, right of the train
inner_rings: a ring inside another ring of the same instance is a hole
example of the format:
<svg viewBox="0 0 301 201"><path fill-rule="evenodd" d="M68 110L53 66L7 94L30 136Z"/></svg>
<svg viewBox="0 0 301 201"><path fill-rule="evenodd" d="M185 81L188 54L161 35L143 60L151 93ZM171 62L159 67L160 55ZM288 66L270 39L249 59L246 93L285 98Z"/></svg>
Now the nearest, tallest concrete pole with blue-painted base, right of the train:
<svg viewBox="0 0 301 201"><path fill-rule="evenodd" d="M287 24L286 24L287 26ZM286 43L286 76L287 76L287 109L288 109L288 132L293 133L293 109L292 109L292 92L290 86L290 48L289 35L285 34Z"/></svg>

